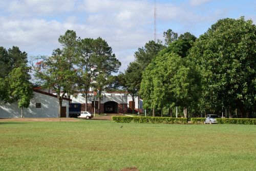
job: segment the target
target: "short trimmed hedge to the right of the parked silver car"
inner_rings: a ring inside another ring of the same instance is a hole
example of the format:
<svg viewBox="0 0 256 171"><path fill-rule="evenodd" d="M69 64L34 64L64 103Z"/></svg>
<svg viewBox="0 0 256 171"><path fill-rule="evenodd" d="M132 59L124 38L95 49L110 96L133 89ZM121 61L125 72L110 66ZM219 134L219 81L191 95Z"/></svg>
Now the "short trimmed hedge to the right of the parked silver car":
<svg viewBox="0 0 256 171"><path fill-rule="evenodd" d="M216 118L216 120L220 124L256 124L256 119L249 118Z"/></svg>

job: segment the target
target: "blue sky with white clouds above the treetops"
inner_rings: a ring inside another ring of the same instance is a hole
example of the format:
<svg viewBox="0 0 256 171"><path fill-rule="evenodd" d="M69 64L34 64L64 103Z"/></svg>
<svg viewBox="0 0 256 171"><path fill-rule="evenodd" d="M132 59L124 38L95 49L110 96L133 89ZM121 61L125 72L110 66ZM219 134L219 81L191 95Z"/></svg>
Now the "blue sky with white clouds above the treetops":
<svg viewBox="0 0 256 171"><path fill-rule="evenodd" d="M51 55L58 37L74 30L81 38L105 39L123 72L134 52L154 40L155 1L146 0L1 0L0 46L18 46L28 56ZM251 19L255 0L156 0L157 39L172 29L196 37L222 18Z"/></svg>

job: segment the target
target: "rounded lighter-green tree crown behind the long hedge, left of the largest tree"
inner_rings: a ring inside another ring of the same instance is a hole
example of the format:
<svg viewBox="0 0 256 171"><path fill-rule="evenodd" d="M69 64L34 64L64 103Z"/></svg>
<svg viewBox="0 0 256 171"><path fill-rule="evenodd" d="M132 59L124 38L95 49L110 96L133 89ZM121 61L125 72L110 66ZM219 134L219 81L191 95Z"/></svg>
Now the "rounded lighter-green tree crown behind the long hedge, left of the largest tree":
<svg viewBox="0 0 256 171"><path fill-rule="evenodd" d="M158 55L143 73L140 93L145 108L187 107L200 95L200 75L187 58Z"/></svg>

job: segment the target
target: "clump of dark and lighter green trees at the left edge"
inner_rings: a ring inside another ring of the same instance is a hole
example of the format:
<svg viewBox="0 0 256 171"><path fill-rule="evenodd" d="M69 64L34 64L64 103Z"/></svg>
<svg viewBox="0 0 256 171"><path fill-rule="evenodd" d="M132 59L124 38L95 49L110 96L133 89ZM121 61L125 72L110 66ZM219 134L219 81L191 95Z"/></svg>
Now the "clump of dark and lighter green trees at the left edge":
<svg viewBox="0 0 256 171"><path fill-rule="evenodd" d="M27 67L27 53L12 47L8 51L0 47L0 99L17 102L18 107L28 108L33 96L32 83Z"/></svg>

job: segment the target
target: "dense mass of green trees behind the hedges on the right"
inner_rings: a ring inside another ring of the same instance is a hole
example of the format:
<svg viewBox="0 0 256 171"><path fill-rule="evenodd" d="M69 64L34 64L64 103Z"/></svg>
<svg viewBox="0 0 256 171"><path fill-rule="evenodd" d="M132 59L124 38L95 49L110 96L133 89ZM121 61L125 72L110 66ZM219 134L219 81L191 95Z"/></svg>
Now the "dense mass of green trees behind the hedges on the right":
<svg viewBox="0 0 256 171"><path fill-rule="evenodd" d="M232 112L252 117L256 27L251 20L221 19L198 39L172 30L164 35L168 46L152 58L138 86L144 108L153 109L153 116L154 109L172 113L181 106L186 117L188 108L190 114L226 109L230 117Z"/></svg>

